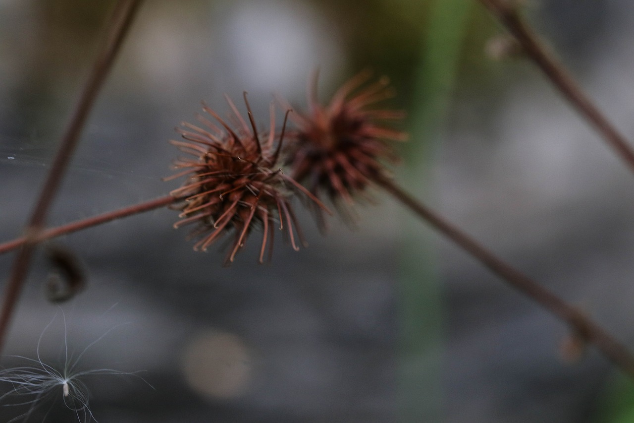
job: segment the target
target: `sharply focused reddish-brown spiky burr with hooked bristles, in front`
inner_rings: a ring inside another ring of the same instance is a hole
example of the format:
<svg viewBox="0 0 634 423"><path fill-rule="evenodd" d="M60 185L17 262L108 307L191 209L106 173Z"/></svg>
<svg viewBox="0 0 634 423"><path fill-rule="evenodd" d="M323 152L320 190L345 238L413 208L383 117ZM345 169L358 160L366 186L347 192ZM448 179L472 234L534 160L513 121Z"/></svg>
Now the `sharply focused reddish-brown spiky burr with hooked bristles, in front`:
<svg viewBox="0 0 634 423"><path fill-rule="evenodd" d="M181 151L194 156L193 159L176 160L174 168L183 171L167 178L169 180L187 176L183 186L171 192L172 196L183 198L183 203L176 206L181 211L181 220L174 227L198 223L190 238L200 238L194 245L194 250L203 251L226 232L235 232L233 245L226 255L224 265L233 262L254 227L261 227L263 232L260 262L264 259L267 242L270 258L276 225L281 230L285 228L283 233L290 238L295 250L299 250L299 247L295 242L294 231L297 232L299 241L306 244L289 204L292 194L301 193L325 208L313 194L284 175L280 168L275 168L288 112L279 141L275 143L273 105L271 104L270 112L271 128L267 134L259 134L246 93L244 99L250 125L227 97L232 111L228 122L203 104L204 111L214 117L220 126L199 114L198 121L204 128L183 123L185 129L176 130L186 142L171 141Z"/></svg>

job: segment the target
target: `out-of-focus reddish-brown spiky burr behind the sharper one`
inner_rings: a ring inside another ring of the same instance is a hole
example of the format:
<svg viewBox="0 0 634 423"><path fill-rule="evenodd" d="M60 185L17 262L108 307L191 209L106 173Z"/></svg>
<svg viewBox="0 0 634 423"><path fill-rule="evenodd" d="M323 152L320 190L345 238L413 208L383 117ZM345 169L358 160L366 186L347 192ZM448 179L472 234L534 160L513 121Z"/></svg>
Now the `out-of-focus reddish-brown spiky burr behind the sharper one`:
<svg viewBox="0 0 634 423"><path fill-rule="evenodd" d="M298 127L287 150L292 177L316 196L320 190L327 192L335 205L339 199L351 205L354 195L364 195L370 182L385 177L381 162L396 161L386 141L406 139L405 133L382 123L402 119L403 112L370 107L393 97L389 79L382 77L359 90L370 76L370 72L361 72L333 95L330 104L321 105L316 100L315 75L309 89L309 111L290 116Z"/></svg>

